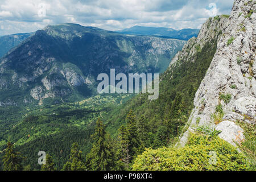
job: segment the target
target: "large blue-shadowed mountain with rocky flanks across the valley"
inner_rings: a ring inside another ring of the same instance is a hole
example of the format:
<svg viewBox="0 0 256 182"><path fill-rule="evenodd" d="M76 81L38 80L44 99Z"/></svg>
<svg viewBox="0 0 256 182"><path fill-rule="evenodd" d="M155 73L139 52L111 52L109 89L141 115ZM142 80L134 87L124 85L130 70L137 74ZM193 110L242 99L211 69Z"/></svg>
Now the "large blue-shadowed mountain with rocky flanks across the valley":
<svg viewBox="0 0 256 182"><path fill-rule="evenodd" d="M184 44L79 24L47 26L0 59L0 106L82 100L97 94L100 73L163 72Z"/></svg>

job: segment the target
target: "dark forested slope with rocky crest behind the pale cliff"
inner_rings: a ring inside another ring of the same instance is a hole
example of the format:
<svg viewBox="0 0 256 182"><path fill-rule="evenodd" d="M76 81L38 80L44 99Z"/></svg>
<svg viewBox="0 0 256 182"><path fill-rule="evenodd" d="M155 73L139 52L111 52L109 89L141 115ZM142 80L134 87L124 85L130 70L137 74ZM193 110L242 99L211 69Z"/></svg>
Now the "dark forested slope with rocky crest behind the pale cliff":
<svg viewBox="0 0 256 182"><path fill-rule="evenodd" d="M177 53L170 68L160 76L158 100L149 101L147 95L140 94L105 115L109 130L116 135L117 128L125 124L125 117L132 109L137 121L141 117L146 120L152 139L147 147L173 143L193 109L193 98L213 59L226 20L223 16L207 20L199 36L190 39Z"/></svg>

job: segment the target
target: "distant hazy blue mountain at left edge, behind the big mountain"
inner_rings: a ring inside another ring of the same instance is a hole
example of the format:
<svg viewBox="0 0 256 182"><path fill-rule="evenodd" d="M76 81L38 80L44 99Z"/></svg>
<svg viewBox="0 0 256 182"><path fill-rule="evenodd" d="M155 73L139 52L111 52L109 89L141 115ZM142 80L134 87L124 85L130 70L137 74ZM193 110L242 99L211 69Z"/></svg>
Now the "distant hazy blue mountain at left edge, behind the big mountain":
<svg viewBox="0 0 256 182"><path fill-rule="evenodd" d="M10 49L18 46L23 40L29 38L33 33L14 34L0 36L0 57L5 55Z"/></svg>

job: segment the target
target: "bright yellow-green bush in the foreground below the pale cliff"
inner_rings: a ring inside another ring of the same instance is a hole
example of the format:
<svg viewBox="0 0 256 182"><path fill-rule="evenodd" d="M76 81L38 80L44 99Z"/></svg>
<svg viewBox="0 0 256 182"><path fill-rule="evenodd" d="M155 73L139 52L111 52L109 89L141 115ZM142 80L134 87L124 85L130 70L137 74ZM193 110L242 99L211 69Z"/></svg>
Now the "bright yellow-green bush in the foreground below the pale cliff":
<svg viewBox="0 0 256 182"><path fill-rule="evenodd" d="M214 157L214 158L213 158ZM214 160L215 159L215 160ZM228 142L218 138L192 134L183 148L146 149L135 159L137 171L228 171L246 170L245 156Z"/></svg>

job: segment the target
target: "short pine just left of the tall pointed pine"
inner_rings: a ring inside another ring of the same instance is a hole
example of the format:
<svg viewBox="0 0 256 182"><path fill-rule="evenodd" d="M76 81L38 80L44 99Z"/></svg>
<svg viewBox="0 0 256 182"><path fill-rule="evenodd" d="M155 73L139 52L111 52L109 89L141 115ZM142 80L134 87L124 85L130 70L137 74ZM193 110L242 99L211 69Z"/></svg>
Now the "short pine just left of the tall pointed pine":
<svg viewBox="0 0 256 182"><path fill-rule="evenodd" d="M79 150L79 144L73 143L71 147L70 158L66 164L63 166L64 171L85 171L86 165L84 162L84 157L82 156L82 151Z"/></svg>

